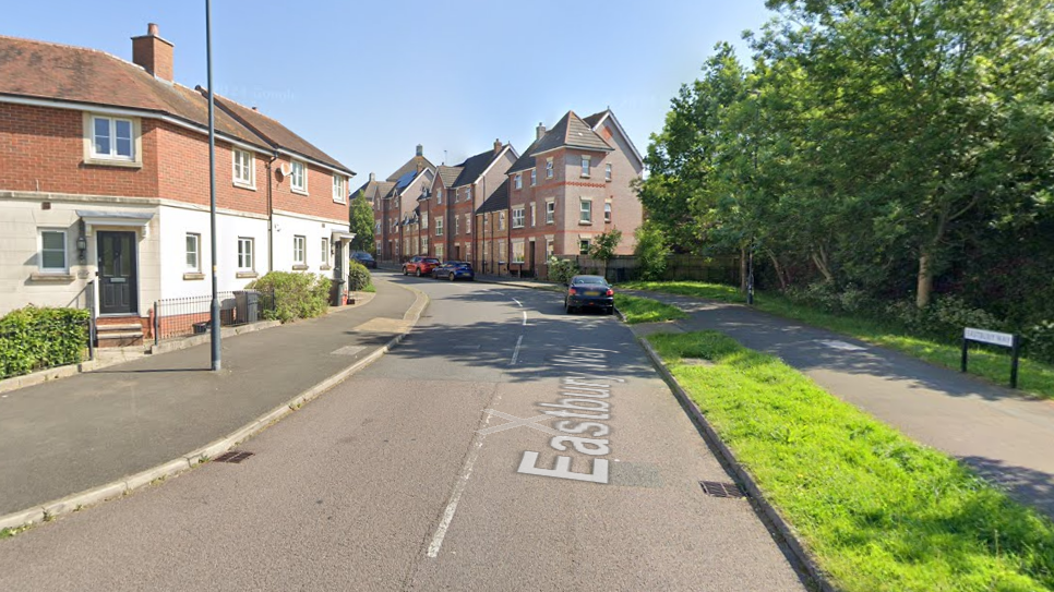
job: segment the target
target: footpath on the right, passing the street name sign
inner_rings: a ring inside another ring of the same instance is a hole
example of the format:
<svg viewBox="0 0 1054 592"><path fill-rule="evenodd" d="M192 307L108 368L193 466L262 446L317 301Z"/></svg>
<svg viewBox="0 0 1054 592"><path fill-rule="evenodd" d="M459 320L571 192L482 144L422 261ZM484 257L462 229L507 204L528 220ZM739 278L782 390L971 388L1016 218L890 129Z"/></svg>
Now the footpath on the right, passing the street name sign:
<svg viewBox="0 0 1054 592"><path fill-rule="evenodd" d="M715 329L771 353L903 434L1054 518L1054 401L741 304L623 290L678 306L670 330ZM659 327L656 327L662 330ZM1009 372L1009 367L1007 369Z"/></svg>

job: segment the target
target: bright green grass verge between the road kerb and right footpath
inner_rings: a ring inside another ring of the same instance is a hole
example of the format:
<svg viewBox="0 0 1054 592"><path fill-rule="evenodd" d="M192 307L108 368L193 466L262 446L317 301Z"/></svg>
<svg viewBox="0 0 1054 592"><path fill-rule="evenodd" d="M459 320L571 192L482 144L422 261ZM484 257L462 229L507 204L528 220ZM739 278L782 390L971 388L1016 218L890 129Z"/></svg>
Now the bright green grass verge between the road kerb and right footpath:
<svg viewBox="0 0 1054 592"><path fill-rule="evenodd" d="M1054 524L951 458L719 333L648 340L837 588L1054 590Z"/></svg>

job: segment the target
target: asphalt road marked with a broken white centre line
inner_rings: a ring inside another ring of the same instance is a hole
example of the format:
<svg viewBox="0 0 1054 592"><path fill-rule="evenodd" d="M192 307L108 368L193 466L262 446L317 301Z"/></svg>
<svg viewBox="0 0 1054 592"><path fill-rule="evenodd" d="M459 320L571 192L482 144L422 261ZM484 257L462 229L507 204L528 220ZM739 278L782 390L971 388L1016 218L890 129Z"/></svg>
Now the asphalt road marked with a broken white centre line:
<svg viewBox="0 0 1054 592"><path fill-rule="evenodd" d="M404 346L241 464L0 541L0 590L804 590L614 317L396 281Z"/></svg>

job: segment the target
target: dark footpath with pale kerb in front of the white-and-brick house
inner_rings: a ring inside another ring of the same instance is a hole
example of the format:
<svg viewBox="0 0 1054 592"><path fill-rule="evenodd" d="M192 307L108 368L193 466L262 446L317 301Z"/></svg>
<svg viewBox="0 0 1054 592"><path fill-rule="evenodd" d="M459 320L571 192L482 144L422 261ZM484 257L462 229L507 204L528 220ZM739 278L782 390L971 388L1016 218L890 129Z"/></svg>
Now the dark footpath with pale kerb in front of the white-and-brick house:
<svg viewBox="0 0 1054 592"><path fill-rule="evenodd" d="M163 464L193 466L202 447L248 437L291 400L368 363L427 304L420 292L374 279L366 305L225 339L219 372L208 370L206 343L4 394L0 527L15 525L12 512L29 510L33 520L72 511L49 503L104 485L96 497L120 495L148 476L130 475Z"/></svg>

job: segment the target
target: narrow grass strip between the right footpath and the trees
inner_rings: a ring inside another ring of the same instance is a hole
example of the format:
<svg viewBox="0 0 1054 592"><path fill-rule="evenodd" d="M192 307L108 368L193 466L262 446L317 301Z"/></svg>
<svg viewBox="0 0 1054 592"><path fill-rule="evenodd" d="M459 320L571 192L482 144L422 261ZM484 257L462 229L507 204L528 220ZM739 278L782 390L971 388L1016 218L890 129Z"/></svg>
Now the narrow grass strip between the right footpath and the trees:
<svg viewBox="0 0 1054 592"><path fill-rule="evenodd" d="M721 302L746 302L746 298L731 286L700 283L696 281L634 281L620 288L649 290ZM754 305L759 311L801 321L814 327L823 327L850 335L877 346L901 351L931 364L959 369L960 346L943 343L934 339L905 335L902 327L872 318L850 317L816 311L771 293L756 293ZM995 352L973 348L970 351L970 374L993 383L1007 385L1010 379L1010 355L1007 351ZM1040 397L1054 399L1054 366L1022 358L1018 370L1018 388Z"/></svg>

